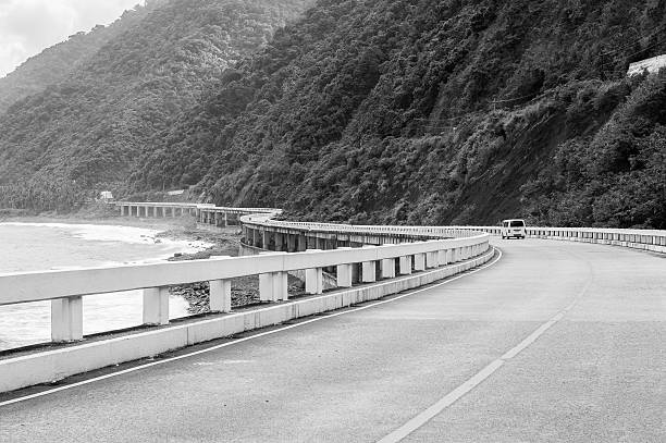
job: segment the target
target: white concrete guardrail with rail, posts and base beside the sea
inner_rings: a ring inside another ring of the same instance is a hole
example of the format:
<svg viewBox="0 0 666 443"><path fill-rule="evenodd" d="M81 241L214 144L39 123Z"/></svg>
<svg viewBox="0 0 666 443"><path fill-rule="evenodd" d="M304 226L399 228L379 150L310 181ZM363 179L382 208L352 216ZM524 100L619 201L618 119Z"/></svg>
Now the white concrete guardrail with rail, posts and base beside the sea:
<svg viewBox="0 0 666 443"><path fill-rule="evenodd" d="M259 223L261 219L272 226L280 223L293 227L269 218L264 214L251 222ZM375 233L375 227L365 230ZM157 328L50 350L0 356L0 392L381 298L492 259L494 250L488 234L459 233L465 236L295 254L2 274L0 305L50 300L53 342L83 340L83 303L85 296L92 294L143 290L144 323ZM324 268L335 269L338 288L322 294ZM287 272L297 270L305 270L306 293L310 296L289 300ZM231 281L247 275L259 275L259 295L266 307L232 312ZM169 325L169 287L199 281L210 282L210 309L219 313Z"/></svg>

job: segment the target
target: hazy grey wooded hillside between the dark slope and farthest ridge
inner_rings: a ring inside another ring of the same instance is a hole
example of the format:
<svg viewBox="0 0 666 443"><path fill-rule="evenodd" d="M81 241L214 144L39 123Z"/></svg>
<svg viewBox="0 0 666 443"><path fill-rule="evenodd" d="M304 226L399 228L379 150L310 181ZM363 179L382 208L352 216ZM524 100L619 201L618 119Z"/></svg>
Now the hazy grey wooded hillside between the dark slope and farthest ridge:
<svg viewBox="0 0 666 443"><path fill-rule="evenodd" d="M0 185L16 187L9 193L18 194L14 201L41 201L60 187L75 193L122 184L135 158L151 149L175 115L307 3L160 3L64 81L0 115Z"/></svg>

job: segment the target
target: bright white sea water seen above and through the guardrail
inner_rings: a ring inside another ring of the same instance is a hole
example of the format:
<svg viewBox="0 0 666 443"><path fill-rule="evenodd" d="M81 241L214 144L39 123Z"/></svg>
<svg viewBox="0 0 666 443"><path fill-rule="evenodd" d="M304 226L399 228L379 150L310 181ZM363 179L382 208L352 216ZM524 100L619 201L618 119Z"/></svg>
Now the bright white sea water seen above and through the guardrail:
<svg viewBox="0 0 666 443"><path fill-rule="evenodd" d="M95 224L0 223L0 274L159 262L202 242L157 239L159 231ZM0 298L2 294L0 294ZM187 315L187 303L170 297L170 317ZM140 291L83 298L84 334L141 324ZM0 306L0 350L50 341L50 303Z"/></svg>

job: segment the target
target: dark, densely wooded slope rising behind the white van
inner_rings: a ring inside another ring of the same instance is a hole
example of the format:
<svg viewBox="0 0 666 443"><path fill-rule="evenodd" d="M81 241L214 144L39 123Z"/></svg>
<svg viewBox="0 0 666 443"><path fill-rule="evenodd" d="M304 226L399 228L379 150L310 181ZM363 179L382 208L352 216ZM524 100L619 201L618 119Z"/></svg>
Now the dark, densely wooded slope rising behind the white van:
<svg viewBox="0 0 666 443"><path fill-rule="evenodd" d="M217 204L317 220L664 229L666 75L626 71L665 49L663 0L319 0L220 64L175 120L151 83L149 131L107 148L111 130L89 126L84 151L59 156L86 183L131 164L127 192L197 184Z"/></svg>

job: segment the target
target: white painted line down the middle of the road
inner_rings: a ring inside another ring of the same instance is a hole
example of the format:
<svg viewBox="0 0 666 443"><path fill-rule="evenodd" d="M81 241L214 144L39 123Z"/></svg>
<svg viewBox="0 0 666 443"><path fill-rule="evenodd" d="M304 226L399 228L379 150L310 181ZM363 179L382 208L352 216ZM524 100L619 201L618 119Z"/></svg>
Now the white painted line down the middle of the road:
<svg viewBox="0 0 666 443"><path fill-rule="evenodd" d="M516 357L522 350L525 350L529 345L534 343L536 339L543 335L551 327L562 320L565 315L570 311L574 306L582 298L582 296L588 292L588 287L590 287L590 283L592 280L588 280L584 287L578 293L574 302L571 302L566 308L557 312L552 319L543 323L534 332L528 335L522 342L518 343L516 346L507 350L502 357L493 360L485 368L481 369L474 376L472 376L465 383L460 384L458 387L443 396L437 403L430 406L428 409L423 410L418 416L414 417L411 420L407 421L405 424L391 432L388 435L384 436L378 443L397 443L405 439L407 435L425 424L428 421L433 419L435 416L441 414L444 409L456 403L458 399L462 398L467 393L481 384L485 379L491 377L497 369L502 368L502 366Z"/></svg>

